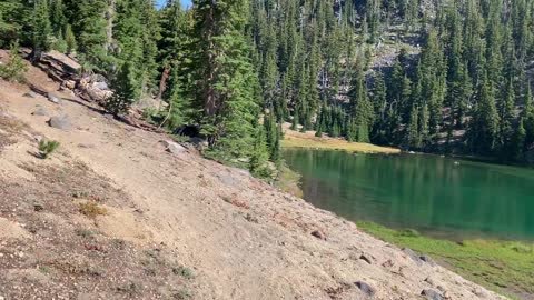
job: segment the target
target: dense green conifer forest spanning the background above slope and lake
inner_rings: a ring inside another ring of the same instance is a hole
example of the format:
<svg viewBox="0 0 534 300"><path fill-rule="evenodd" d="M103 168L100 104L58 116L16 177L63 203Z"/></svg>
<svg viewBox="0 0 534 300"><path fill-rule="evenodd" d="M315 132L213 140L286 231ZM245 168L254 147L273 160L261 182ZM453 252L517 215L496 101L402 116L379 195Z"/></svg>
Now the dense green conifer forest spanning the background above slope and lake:
<svg viewBox="0 0 534 300"><path fill-rule="evenodd" d="M524 161L531 0L3 0L0 42L77 56L120 116L142 97L207 154L269 172L281 123L316 136ZM178 130L179 131L179 130Z"/></svg>

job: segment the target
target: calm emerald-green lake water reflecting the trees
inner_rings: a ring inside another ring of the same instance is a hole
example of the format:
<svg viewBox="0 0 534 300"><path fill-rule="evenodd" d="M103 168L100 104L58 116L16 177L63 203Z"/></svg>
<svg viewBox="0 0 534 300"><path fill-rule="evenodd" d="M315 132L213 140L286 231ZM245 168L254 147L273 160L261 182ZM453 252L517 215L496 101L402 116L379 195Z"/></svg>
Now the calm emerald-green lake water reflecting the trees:
<svg viewBox="0 0 534 300"><path fill-rule="evenodd" d="M534 170L423 154L286 150L304 198L353 221L451 239L534 240Z"/></svg>

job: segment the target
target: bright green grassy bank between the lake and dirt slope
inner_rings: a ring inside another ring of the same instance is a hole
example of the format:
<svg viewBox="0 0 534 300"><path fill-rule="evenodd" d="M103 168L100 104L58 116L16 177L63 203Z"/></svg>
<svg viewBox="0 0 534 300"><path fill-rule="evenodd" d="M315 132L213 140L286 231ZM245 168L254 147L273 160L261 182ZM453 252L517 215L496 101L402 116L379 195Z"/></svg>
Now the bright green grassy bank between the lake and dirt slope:
<svg viewBox="0 0 534 300"><path fill-rule="evenodd" d="M534 243L483 239L454 242L373 222L357 226L386 242L429 254L466 279L511 299L534 297Z"/></svg>

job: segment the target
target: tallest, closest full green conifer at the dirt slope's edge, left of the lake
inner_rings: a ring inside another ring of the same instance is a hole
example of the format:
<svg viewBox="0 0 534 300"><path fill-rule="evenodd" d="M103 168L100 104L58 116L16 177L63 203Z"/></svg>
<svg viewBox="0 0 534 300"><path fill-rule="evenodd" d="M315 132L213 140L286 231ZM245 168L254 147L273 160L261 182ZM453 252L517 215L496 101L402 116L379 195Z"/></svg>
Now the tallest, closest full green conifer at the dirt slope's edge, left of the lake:
<svg viewBox="0 0 534 300"><path fill-rule="evenodd" d="M225 160L250 157L259 113L254 89L259 82L244 36L246 0L195 2L195 43L198 108L202 133Z"/></svg>

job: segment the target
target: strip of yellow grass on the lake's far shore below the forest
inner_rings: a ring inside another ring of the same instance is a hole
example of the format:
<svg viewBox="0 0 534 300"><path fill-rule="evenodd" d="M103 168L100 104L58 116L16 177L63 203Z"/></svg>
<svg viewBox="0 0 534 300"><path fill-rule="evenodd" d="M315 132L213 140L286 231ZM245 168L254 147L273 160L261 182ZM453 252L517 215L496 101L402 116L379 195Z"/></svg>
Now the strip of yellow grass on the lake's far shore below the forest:
<svg viewBox="0 0 534 300"><path fill-rule="evenodd" d="M327 150L345 150L362 153L399 153L399 149L379 147L363 142L348 142L334 138L317 138L314 132L297 132L287 129L285 138L281 141L283 148L307 148L307 149L327 149Z"/></svg>

